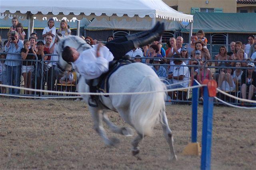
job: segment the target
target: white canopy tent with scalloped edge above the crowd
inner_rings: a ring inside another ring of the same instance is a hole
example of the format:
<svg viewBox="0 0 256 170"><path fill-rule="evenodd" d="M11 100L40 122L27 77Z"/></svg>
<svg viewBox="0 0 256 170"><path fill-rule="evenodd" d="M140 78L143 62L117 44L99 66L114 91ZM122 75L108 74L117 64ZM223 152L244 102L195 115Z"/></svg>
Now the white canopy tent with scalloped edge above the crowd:
<svg viewBox="0 0 256 170"><path fill-rule="evenodd" d="M122 20L128 21L142 18L152 20L188 21L192 26L193 16L182 14L165 4L162 0L1 0L1 18L12 18L17 16L20 19L28 20L28 35L33 29L33 18L40 20L43 17L57 17L72 19L76 17L81 20L83 17L91 20ZM79 30L79 22L78 22ZM192 27L191 27L192 32ZM78 31L79 35L79 31Z"/></svg>

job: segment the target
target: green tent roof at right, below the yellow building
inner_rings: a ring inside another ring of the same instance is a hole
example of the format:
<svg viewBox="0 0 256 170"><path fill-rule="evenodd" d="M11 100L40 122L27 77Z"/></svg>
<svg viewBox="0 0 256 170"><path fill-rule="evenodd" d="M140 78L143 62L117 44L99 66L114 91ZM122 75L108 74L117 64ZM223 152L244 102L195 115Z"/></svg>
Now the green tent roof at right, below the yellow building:
<svg viewBox="0 0 256 170"><path fill-rule="evenodd" d="M256 13L196 12L193 18L193 32L256 33ZM182 32L189 32L189 25Z"/></svg>

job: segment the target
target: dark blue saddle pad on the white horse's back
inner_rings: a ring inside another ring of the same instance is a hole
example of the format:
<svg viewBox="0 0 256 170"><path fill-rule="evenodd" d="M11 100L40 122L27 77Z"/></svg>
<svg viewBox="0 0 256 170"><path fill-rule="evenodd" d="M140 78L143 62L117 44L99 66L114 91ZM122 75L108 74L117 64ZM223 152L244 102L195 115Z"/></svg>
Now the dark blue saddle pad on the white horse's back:
<svg viewBox="0 0 256 170"><path fill-rule="evenodd" d="M109 92L109 83L108 83L108 80L110 78L110 76L118 69L120 68L121 66L124 66L124 65L128 65L128 64L132 64L131 61L129 60L121 60L121 61L118 61L116 64L114 64L114 66L112 68L110 68L110 70L108 72L106 72L105 74L103 74L101 76L101 81L99 83L99 87L98 87L98 90L100 92L103 92L103 93L108 93ZM109 97L109 95L104 95L105 97Z"/></svg>

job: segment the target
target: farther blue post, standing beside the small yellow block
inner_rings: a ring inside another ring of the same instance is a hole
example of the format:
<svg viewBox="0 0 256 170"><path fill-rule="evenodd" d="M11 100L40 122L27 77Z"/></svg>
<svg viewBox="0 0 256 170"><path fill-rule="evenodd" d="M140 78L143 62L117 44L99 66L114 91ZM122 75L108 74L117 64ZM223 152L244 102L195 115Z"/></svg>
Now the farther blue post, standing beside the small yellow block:
<svg viewBox="0 0 256 170"><path fill-rule="evenodd" d="M193 86L197 86L197 82L193 81ZM192 89L192 131L191 131L191 142L197 142L197 106L198 106L198 88Z"/></svg>

